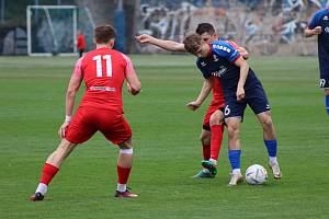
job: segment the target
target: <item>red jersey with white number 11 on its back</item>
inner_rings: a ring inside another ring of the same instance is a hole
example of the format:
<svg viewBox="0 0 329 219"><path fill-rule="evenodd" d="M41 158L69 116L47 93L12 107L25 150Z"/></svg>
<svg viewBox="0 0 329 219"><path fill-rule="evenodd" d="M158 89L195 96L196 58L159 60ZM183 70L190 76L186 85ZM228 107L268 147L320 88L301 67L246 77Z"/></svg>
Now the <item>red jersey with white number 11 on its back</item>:
<svg viewBox="0 0 329 219"><path fill-rule="evenodd" d="M92 106L123 112L122 87L127 61L123 54L98 48L81 58L86 92L80 106Z"/></svg>

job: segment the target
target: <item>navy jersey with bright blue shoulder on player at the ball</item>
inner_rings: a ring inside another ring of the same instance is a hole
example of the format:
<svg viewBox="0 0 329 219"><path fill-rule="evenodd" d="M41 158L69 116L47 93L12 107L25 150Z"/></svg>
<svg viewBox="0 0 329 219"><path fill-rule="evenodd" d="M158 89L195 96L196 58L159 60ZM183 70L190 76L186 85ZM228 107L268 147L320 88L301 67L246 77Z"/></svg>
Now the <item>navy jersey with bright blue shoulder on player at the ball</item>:
<svg viewBox="0 0 329 219"><path fill-rule="evenodd" d="M206 58L197 58L196 66L204 78L219 78L225 96L235 96L240 78L240 68L235 65L235 61L240 58L240 54L227 42L217 41L211 43L209 46L209 55ZM245 90L252 89L258 84L260 84L260 81L254 72L249 69Z"/></svg>

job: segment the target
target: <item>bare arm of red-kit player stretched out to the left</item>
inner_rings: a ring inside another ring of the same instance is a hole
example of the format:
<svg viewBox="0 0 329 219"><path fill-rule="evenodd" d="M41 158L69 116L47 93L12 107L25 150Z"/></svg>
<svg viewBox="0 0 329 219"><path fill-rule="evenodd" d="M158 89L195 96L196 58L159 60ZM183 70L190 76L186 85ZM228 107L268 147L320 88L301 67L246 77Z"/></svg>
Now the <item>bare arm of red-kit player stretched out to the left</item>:
<svg viewBox="0 0 329 219"><path fill-rule="evenodd" d="M152 44L169 51L185 51L184 44L177 43L173 41L159 39L147 34L136 36L136 39L140 44Z"/></svg>

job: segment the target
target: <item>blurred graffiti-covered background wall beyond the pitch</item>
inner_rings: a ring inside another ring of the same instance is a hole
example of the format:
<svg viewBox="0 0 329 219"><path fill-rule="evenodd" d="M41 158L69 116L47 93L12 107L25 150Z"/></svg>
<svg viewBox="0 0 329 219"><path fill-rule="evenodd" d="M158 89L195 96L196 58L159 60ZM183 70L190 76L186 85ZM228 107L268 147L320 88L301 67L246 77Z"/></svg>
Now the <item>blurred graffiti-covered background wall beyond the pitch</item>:
<svg viewBox="0 0 329 219"><path fill-rule="evenodd" d="M0 55L27 54L27 5L76 5L77 30L86 35L88 49L93 48L92 30L99 24L115 26L116 48L123 53L163 53L136 44L134 36L147 33L182 42L197 23L209 22L223 38L236 41L254 55L315 55L316 37L306 39L303 32L311 14L329 7L329 0L0 0ZM70 15L50 12L56 34L45 37L50 31L43 13L33 12L33 32L42 34L35 33L32 44L41 53L56 44L59 48L52 53L71 51L75 42L67 35L76 32L65 25Z"/></svg>

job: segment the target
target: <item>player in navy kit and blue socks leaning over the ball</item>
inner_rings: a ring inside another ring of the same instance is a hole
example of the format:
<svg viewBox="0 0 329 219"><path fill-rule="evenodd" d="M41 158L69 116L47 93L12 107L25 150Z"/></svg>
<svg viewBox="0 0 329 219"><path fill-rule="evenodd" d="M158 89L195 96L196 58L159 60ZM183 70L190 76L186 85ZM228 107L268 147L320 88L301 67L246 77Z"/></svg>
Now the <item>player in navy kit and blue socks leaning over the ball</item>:
<svg viewBox="0 0 329 219"><path fill-rule="evenodd" d="M269 164L274 178L281 178L276 159L277 142L270 105L261 82L249 68L247 61L230 44L223 41L205 44L197 34L186 36L184 46L189 53L198 57L196 66L204 78L219 78L224 90L228 157L232 169L232 176L228 185L235 186L243 178L240 170L239 131L247 104L262 125L264 143L269 152Z"/></svg>

